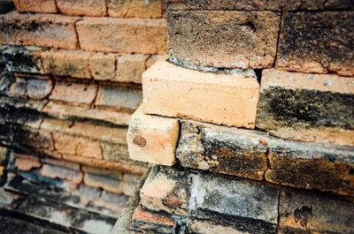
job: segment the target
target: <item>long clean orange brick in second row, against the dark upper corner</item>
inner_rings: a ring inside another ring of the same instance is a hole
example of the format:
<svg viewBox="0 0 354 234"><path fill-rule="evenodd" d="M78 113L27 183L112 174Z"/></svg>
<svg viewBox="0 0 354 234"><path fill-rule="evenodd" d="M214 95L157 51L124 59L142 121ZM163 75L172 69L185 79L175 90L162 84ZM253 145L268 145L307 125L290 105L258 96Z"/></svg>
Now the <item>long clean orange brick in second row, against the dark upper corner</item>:
<svg viewBox="0 0 354 234"><path fill-rule="evenodd" d="M87 18L76 24L81 49L165 54L165 19Z"/></svg>

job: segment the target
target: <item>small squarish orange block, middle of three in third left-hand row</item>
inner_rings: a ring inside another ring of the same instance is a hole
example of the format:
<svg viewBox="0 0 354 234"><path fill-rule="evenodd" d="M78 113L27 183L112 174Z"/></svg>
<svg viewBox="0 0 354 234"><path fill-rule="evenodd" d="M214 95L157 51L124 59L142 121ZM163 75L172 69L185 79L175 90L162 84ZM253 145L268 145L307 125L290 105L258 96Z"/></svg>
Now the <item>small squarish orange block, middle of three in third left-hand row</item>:
<svg viewBox="0 0 354 234"><path fill-rule="evenodd" d="M116 56L114 54L96 53L89 57L89 66L94 79L114 79L116 71Z"/></svg>

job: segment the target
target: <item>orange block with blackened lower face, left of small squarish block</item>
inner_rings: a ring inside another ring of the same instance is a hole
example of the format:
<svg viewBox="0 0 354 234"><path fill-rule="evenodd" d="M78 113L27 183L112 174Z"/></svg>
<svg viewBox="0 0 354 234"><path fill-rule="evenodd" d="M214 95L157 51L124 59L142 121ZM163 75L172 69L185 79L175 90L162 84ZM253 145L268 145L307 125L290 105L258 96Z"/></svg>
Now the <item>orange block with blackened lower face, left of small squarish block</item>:
<svg viewBox="0 0 354 234"><path fill-rule="evenodd" d="M90 56L82 50L49 50L42 52L42 62L47 74L91 79Z"/></svg>

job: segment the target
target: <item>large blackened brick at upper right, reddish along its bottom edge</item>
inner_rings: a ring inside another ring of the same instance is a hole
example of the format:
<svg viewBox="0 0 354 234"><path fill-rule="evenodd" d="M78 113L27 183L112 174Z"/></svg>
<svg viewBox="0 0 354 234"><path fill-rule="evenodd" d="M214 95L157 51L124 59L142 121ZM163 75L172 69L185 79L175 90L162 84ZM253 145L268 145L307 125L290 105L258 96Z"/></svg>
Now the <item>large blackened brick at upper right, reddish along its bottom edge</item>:
<svg viewBox="0 0 354 234"><path fill-rule="evenodd" d="M276 66L354 76L353 11L285 12Z"/></svg>

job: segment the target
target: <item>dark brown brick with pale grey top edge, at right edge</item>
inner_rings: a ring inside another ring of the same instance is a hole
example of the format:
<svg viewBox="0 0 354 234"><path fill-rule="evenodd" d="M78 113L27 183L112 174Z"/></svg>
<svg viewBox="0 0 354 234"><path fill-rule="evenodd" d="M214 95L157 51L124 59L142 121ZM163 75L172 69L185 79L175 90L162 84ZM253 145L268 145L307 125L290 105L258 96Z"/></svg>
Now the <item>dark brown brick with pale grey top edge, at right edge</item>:
<svg viewBox="0 0 354 234"><path fill-rule="evenodd" d="M270 140L268 147L267 181L342 195L354 195L353 147L281 139Z"/></svg>

